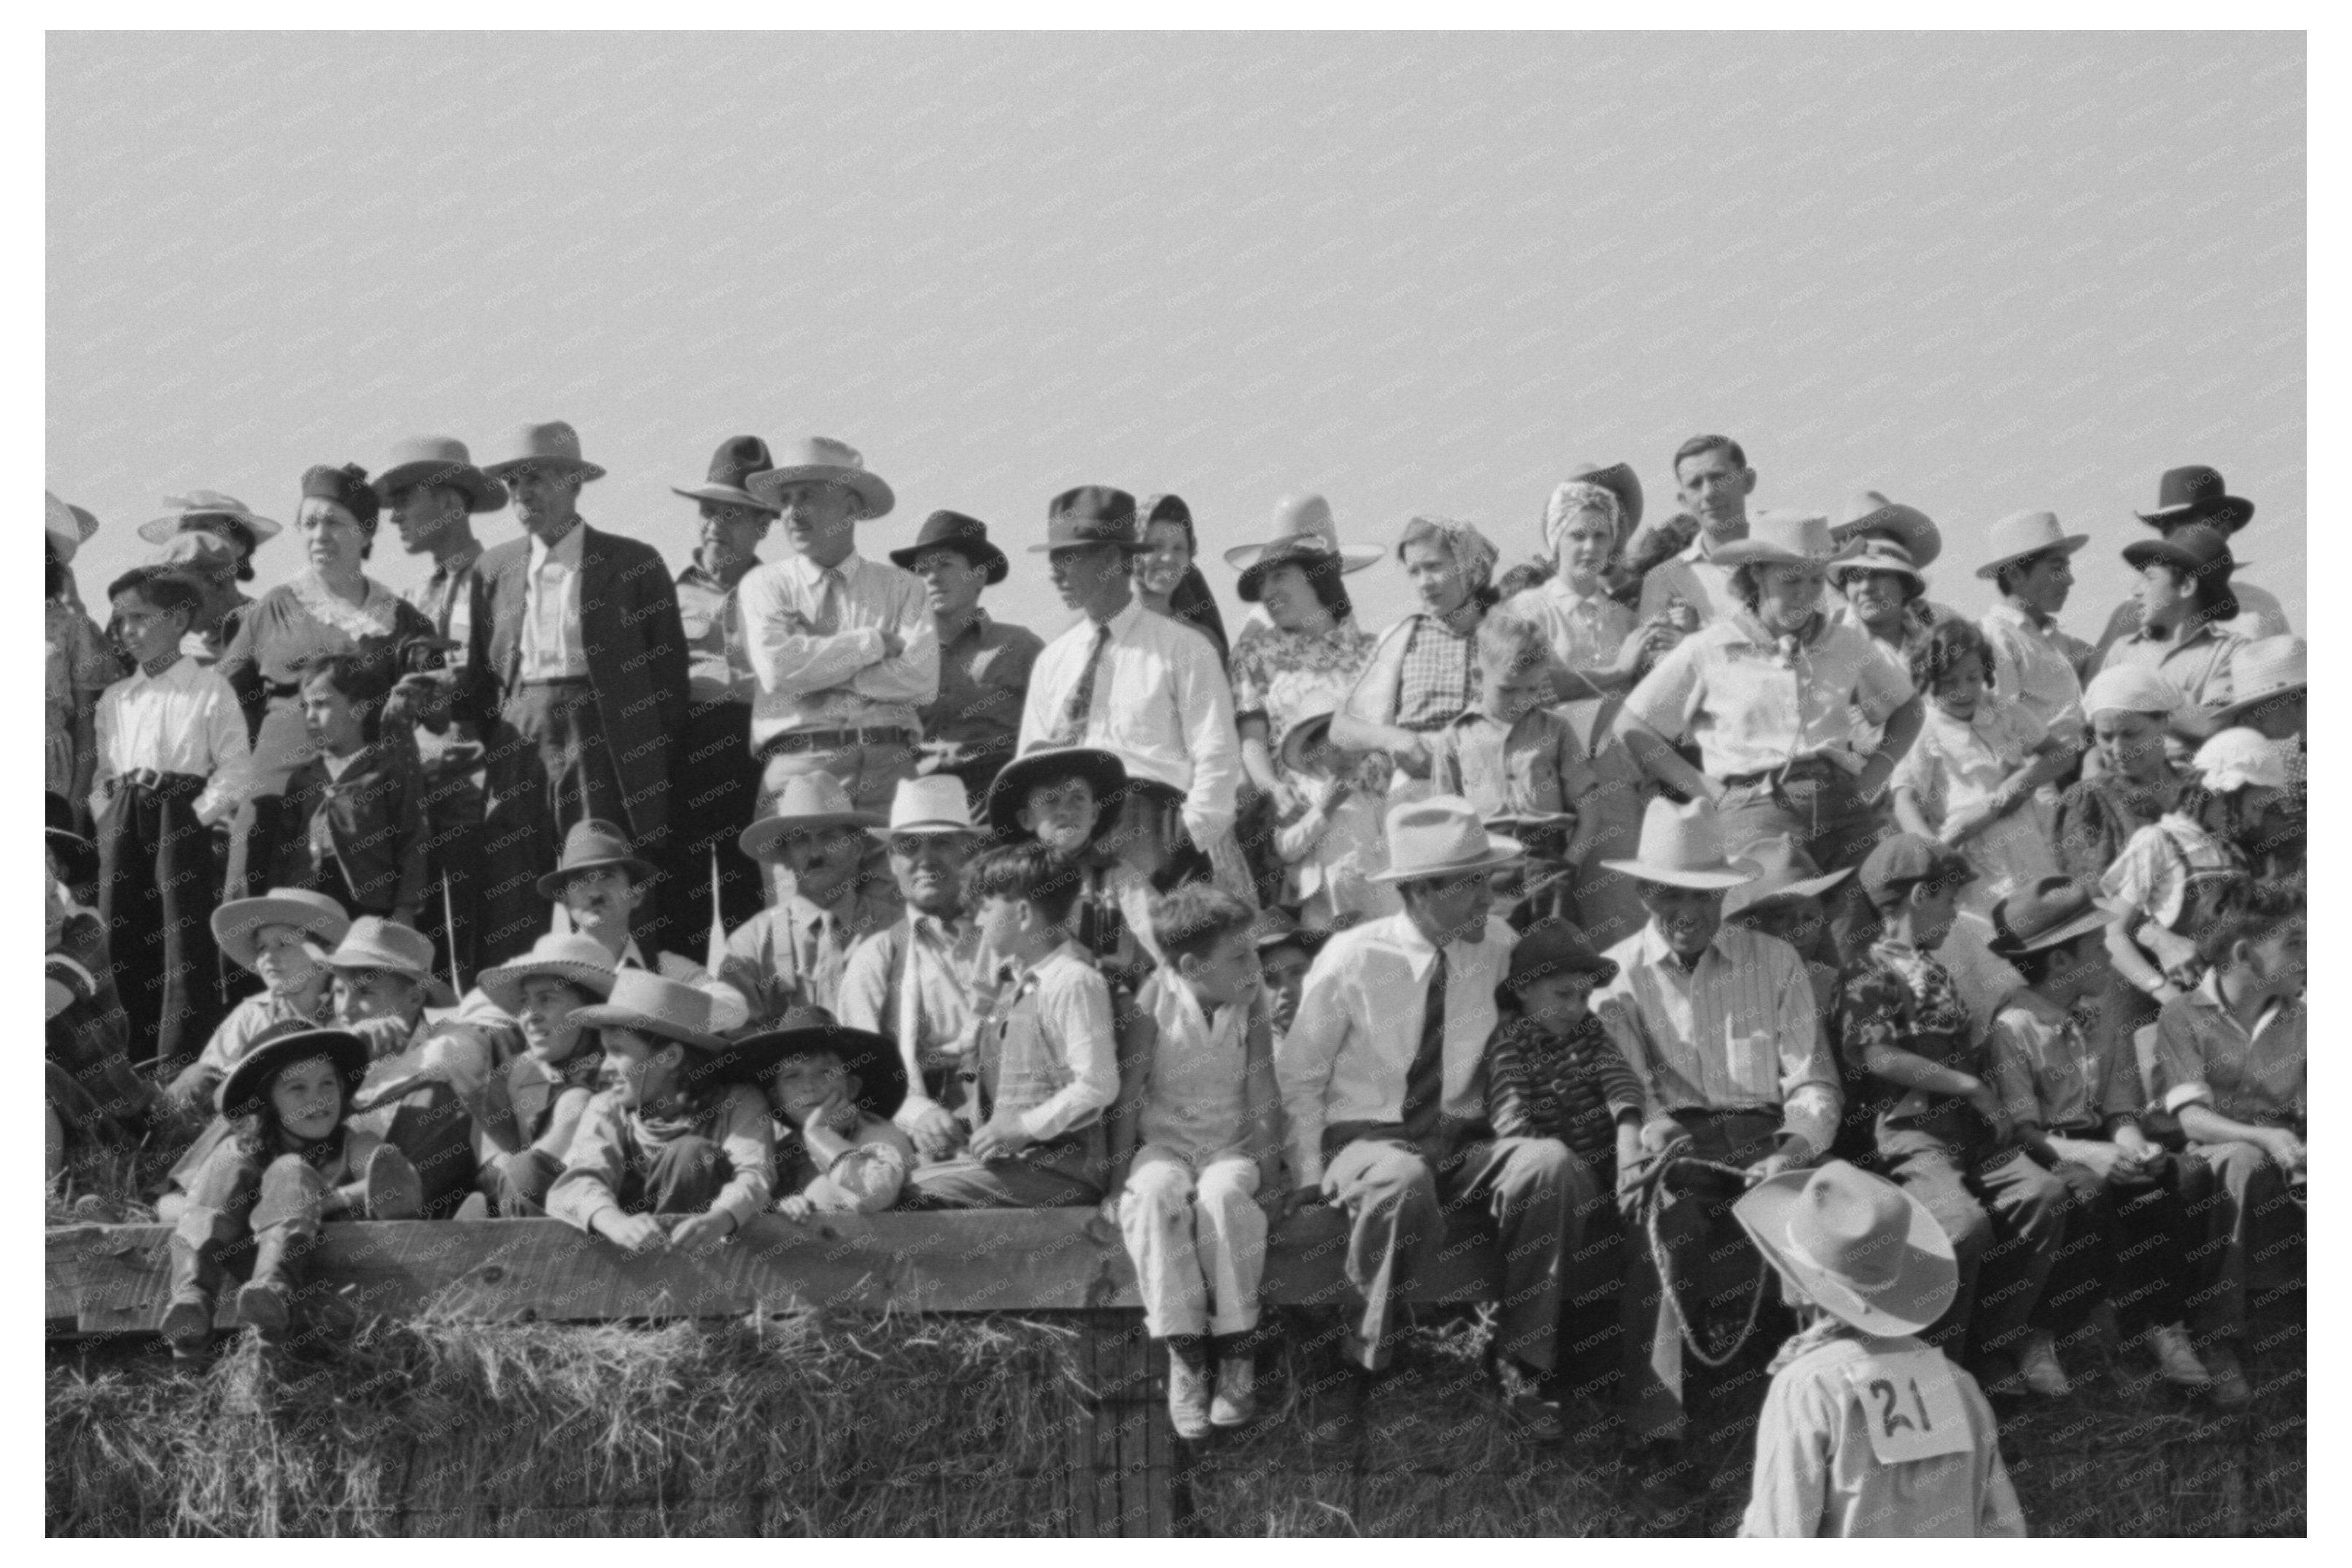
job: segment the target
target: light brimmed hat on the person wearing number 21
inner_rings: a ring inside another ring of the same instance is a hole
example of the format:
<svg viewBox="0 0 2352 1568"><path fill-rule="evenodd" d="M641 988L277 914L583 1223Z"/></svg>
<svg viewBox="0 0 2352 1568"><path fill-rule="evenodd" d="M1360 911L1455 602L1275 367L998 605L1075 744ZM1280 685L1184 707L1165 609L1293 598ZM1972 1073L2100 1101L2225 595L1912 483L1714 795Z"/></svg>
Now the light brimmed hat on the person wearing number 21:
<svg viewBox="0 0 2352 1568"><path fill-rule="evenodd" d="M1959 1291L1952 1241L1929 1206L1842 1159L1783 1171L1731 1213L1773 1267L1863 1333L1922 1333Z"/></svg>

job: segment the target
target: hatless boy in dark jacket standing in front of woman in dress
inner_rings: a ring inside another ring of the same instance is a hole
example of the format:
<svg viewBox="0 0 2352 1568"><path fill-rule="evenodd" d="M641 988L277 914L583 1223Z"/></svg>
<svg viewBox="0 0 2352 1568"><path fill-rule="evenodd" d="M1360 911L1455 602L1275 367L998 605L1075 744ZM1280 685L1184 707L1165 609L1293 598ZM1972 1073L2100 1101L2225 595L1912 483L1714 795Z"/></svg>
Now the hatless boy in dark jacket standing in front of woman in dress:
<svg viewBox="0 0 2352 1568"><path fill-rule="evenodd" d="M313 757L287 778L278 882L353 914L416 926L426 898L423 776L416 748L386 741L383 672L350 654L313 661L301 717Z"/></svg>

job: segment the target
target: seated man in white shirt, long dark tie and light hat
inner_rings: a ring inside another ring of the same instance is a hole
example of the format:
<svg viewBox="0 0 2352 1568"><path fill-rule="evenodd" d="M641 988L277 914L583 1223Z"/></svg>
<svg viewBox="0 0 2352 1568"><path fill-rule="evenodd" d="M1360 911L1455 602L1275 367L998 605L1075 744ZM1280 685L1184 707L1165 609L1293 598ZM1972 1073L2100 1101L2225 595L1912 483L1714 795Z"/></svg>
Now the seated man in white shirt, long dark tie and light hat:
<svg viewBox="0 0 2352 1568"><path fill-rule="evenodd" d="M1446 1211L1484 1208L1503 1258L1496 1366L1541 1385L1557 1363L1562 1274L1597 1187L1564 1145L1486 1126L1486 1041L1515 940L1489 879L1519 846L1446 795L1392 809L1388 842L1383 877L1404 912L1329 938L1275 1048L1294 1182L1284 1213L1315 1201L1345 1211L1359 1307L1343 1356L1371 1373L1392 1354L1395 1298L1444 1248ZM1364 1380L1343 1378L1343 1422L1362 1396ZM1512 1408L1543 1436L1559 1432L1557 1403L1541 1392L1517 1389Z"/></svg>

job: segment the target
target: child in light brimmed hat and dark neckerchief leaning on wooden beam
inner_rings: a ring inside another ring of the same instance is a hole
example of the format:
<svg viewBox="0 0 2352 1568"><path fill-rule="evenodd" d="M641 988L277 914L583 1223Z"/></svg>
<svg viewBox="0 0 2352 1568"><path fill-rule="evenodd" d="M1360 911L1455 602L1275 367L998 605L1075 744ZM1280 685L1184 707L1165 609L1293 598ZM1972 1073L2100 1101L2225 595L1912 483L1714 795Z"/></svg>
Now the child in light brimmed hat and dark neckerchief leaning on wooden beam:
<svg viewBox="0 0 2352 1568"><path fill-rule="evenodd" d="M574 1020L597 1032L614 1086L588 1100L548 1215L654 1253L717 1246L767 1208L776 1133L760 1091L734 1081L708 992L623 969Z"/></svg>

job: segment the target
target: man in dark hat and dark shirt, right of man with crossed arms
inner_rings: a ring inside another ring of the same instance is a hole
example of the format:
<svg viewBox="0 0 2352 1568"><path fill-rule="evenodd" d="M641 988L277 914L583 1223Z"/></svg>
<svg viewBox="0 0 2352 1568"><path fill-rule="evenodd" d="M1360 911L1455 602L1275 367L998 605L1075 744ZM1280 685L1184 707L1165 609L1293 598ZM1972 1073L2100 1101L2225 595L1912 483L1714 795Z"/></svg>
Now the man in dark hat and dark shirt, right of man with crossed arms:
<svg viewBox="0 0 2352 1568"><path fill-rule="evenodd" d="M891 562L922 578L938 632L938 696L924 703L924 773L953 773L983 799L1014 757L1030 668L1044 642L1025 625L990 621L981 590L1011 571L1004 550L988 543L988 524L962 512L931 512Z"/></svg>

